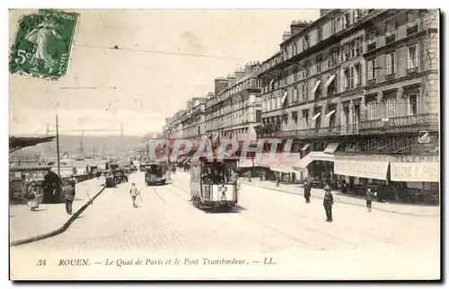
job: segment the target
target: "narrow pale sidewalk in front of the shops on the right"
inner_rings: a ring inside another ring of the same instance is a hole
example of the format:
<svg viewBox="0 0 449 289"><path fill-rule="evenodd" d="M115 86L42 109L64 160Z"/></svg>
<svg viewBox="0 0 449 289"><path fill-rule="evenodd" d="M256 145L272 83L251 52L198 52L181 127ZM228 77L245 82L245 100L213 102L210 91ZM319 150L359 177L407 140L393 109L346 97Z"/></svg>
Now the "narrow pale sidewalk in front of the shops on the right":
<svg viewBox="0 0 449 289"><path fill-rule="evenodd" d="M285 192L288 194L304 195L304 188L298 184L280 184L276 187L276 183L259 179L252 179L251 182L247 178L240 178L240 183L242 185L268 188L272 190L277 190ZM322 199L324 196L324 190L322 188L312 188L311 194L313 198ZM334 199L336 203L343 203L354 206L366 206L365 198L350 197L341 194L340 192L333 191ZM438 216L440 215L439 206L419 206L419 205L409 205L409 204L394 204L394 203L378 203L373 201L373 210L391 212L401 215L421 215L421 216Z"/></svg>

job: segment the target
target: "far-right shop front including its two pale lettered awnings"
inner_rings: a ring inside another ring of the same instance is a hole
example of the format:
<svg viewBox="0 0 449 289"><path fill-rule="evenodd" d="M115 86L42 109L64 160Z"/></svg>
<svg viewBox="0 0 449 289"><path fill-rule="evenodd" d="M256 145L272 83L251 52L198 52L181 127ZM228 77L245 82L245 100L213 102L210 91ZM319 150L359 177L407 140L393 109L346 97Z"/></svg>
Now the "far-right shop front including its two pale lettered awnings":
<svg viewBox="0 0 449 289"><path fill-rule="evenodd" d="M436 204L439 199L437 156L336 154L334 171L348 192L363 196L374 188L379 200Z"/></svg>

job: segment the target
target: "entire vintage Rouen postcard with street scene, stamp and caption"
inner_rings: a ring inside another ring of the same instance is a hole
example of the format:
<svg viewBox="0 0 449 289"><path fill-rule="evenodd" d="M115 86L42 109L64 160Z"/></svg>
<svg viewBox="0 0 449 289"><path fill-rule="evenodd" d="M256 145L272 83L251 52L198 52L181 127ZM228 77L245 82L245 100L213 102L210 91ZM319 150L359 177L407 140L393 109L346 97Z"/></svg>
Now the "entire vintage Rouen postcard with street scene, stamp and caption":
<svg viewBox="0 0 449 289"><path fill-rule="evenodd" d="M440 280L440 11L9 11L12 280Z"/></svg>

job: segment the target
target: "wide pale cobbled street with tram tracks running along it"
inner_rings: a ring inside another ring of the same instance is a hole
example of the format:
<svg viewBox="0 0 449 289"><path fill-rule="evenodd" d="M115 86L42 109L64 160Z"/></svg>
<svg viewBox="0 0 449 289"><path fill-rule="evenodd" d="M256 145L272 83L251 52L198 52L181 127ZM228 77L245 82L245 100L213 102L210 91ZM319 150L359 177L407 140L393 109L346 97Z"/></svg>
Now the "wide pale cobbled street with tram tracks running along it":
<svg viewBox="0 0 449 289"><path fill-rule="evenodd" d="M133 174L130 182L141 188L138 208L132 206L129 183L107 188L66 232L14 247L12 259L14 252L36 251L288 254L310 257L315 271L325 266L330 276L340 272L337 267L345 267L339 274L350 277L351 270L359 272L367 264L375 268L366 273L373 277L439 276L439 216L368 213L364 207L336 202L334 222L326 223L321 199L305 204L299 195L246 185L235 212L207 213L189 203L187 173L178 172L172 179L170 185L146 187L143 173ZM418 269L424 261L426 268ZM395 274L405 265L415 267L417 275L409 270Z"/></svg>

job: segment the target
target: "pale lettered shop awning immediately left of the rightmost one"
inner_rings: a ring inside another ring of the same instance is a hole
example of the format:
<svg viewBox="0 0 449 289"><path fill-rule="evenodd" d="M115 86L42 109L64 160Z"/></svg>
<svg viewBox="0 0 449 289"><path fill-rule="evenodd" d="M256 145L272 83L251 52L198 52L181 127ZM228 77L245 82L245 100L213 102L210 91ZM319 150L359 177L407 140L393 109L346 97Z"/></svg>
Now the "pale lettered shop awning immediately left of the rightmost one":
<svg viewBox="0 0 449 289"><path fill-rule="evenodd" d="M336 160L334 173L349 177L387 180L389 164L390 162Z"/></svg>

